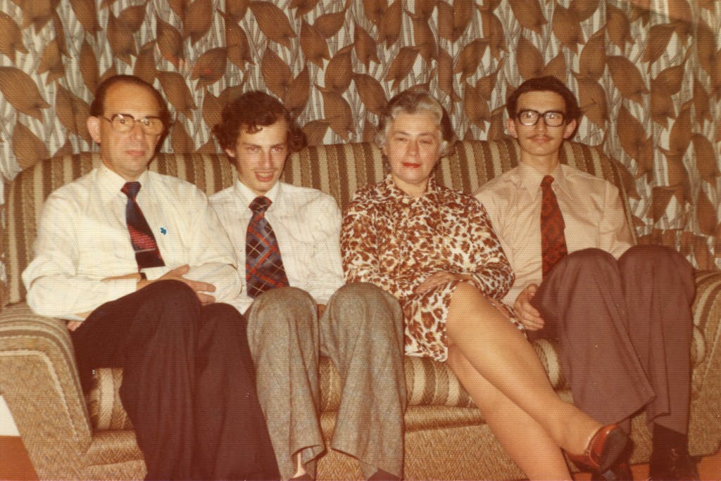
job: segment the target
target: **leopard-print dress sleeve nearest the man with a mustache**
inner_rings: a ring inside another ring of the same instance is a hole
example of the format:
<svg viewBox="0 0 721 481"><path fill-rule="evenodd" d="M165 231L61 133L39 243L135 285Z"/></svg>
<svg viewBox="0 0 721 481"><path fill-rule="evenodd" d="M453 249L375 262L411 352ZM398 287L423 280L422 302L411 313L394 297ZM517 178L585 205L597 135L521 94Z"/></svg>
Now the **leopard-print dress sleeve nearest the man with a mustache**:
<svg viewBox="0 0 721 481"><path fill-rule="evenodd" d="M474 261L478 266L472 274L471 282L485 295L502 299L513 285L516 276L497 235L493 232L485 207L475 199L469 207L469 220Z"/></svg>

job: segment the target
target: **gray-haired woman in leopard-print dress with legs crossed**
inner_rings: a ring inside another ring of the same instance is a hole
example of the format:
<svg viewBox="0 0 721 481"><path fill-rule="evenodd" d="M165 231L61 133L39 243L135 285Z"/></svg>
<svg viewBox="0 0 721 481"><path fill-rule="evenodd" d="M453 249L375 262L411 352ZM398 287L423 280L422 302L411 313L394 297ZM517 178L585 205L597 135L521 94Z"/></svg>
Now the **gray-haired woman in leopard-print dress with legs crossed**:
<svg viewBox="0 0 721 481"><path fill-rule="evenodd" d="M560 449L605 471L626 436L555 394L499 301L514 277L484 207L431 178L453 140L448 114L428 92L389 102L376 143L391 172L359 190L345 212L346 280L399 299L406 354L448 362L530 479L571 479Z"/></svg>

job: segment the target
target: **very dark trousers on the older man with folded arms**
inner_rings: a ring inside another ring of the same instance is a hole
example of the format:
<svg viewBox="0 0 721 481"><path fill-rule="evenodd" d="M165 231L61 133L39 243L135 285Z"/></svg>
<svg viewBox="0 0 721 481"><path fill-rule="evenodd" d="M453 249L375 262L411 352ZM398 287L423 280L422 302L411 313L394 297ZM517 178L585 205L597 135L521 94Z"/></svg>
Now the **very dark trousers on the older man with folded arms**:
<svg viewBox="0 0 721 481"><path fill-rule="evenodd" d="M234 307L160 281L101 305L72 338L84 386L93 368L123 368L146 479L279 478Z"/></svg>

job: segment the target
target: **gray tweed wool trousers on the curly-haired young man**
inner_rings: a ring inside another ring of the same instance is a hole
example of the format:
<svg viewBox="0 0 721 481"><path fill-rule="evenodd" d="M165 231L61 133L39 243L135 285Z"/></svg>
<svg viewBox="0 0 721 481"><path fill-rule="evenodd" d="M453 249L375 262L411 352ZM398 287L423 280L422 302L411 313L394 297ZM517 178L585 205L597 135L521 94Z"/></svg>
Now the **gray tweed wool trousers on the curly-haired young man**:
<svg viewBox="0 0 721 481"><path fill-rule="evenodd" d="M283 480L301 454L313 477L325 450L319 422L319 356L340 373L342 394L330 447L351 454L368 478L402 476L403 317L398 301L368 283L347 284L320 318L311 295L271 289L246 312L257 393Z"/></svg>

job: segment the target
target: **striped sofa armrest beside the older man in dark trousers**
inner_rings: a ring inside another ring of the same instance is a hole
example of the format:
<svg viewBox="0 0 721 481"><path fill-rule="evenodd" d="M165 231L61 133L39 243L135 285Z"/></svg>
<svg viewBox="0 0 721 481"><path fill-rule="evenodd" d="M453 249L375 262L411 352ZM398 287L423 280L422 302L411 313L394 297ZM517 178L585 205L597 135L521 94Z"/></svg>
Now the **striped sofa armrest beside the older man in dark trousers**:
<svg viewBox="0 0 721 481"><path fill-rule="evenodd" d="M78 479L92 431L65 323L25 302L2 310L0 394L40 479Z"/></svg>

